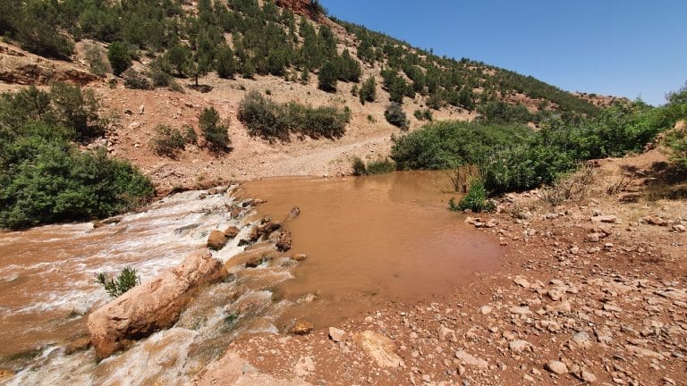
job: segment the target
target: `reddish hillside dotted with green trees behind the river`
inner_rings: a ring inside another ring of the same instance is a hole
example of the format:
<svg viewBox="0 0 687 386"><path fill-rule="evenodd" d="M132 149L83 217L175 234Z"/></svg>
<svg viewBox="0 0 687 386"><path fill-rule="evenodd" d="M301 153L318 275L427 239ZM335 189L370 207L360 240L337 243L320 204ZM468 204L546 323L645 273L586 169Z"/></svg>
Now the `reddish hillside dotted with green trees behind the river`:
<svg viewBox="0 0 687 386"><path fill-rule="evenodd" d="M110 155L139 165L159 192L216 180L348 173L353 156L388 154L391 135L400 132L385 120L390 100L403 105L411 130L426 123L420 121L426 111L434 120L471 121L496 112L530 124L542 111L596 113L584 98L531 77L438 57L329 19L317 2L159 4L30 2L23 10L8 8L14 21L0 21L8 37L0 46L0 90L55 81L94 89L102 112L117 121L89 147L106 145ZM41 35L46 24L59 25L60 33ZM107 59L113 45L124 47L124 59L131 57L131 69L119 76ZM318 80L329 63L338 80L325 91ZM352 91L371 77L376 97L362 105ZM237 119L250 90L280 103L347 107L351 119L344 136L333 140L251 137ZM215 106L229 122L231 151L217 154L200 143L187 145L174 158L156 154L150 141L157 125L188 124L199 131L199 113L207 106Z"/></svg>

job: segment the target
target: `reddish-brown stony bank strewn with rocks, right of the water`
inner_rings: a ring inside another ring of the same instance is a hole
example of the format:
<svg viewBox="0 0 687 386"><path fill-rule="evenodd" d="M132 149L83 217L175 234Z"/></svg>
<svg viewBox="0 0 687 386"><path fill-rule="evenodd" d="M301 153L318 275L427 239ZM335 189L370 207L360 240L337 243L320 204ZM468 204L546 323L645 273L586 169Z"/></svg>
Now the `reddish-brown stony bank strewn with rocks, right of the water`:
<svg viewBox="0 0 687 386"><path fill-rule="evenodd" d="M236 340L197 384L233 384L219 369L236 356L251 365L243 378L311 384L685 384L687 207L647 199L656 156L598 163L561 206L542 191L502 199L473 221L504 248L497 273L310 335Z"/></svg>

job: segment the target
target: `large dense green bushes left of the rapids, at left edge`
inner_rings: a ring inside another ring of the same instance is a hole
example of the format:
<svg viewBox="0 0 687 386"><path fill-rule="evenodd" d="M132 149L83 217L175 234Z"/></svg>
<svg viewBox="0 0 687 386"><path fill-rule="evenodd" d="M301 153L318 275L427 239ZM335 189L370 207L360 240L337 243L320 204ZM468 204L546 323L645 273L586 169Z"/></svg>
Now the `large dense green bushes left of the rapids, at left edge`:
<svg viewBox="0 0 687 386"><path fill-rule="evenodd" d="M66 85L2 95L0 227L109 216L152 196L131 164L72 145L96 132L98 105L89 95Z"/></svg>

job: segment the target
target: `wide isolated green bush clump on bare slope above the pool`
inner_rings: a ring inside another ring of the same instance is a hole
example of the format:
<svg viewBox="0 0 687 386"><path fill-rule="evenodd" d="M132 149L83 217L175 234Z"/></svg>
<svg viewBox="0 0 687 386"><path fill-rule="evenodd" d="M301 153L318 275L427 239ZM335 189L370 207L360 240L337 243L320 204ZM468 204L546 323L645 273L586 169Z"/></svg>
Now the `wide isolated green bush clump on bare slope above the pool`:
<svg viewBox="0 0 687 386"><path fill-rule="evenodd" d="M338 138L344 135L351 119L348 109L310 107L295 102L276 104L273 100L251 91L239 106L239 120L255 137L287 141L291 133L311 138Z"/></svg>

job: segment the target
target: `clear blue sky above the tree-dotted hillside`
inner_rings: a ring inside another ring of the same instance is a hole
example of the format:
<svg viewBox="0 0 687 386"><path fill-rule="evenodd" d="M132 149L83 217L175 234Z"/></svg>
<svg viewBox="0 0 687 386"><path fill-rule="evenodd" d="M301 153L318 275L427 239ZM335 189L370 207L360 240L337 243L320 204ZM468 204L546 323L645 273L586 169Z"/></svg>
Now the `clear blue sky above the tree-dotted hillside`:
<svg viewBox="0 0 687 386"><path fill-rule="evenodd" d="M687 0L320 0L331 15L532 75L662 105L687 80Z"/></svg>

